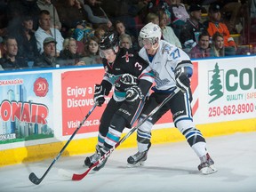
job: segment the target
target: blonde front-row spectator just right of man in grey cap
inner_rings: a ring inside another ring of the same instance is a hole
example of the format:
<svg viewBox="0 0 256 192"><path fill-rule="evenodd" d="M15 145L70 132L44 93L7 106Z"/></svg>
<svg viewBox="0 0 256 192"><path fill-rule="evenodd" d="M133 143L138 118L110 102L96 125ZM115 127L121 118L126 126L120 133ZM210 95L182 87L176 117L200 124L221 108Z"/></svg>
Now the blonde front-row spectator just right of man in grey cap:
<svg viewBox="0 0 256 192"><path fill-rule="evenodd" d="M81 56L76 50L76 39L72 37L66 38L63 42L63 50L60 52L60 56L57 59L58 64L60 64L61 67L85 65L84 61L80 60Z"/></svg>

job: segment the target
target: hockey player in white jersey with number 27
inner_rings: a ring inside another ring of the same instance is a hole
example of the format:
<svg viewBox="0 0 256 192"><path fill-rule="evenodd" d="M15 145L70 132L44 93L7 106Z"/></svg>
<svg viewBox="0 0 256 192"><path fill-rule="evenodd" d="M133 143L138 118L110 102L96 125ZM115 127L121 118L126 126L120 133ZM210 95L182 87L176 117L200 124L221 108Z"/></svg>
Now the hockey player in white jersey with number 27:
<svg viewBox="0 0 256 192"><path fill-rule="evenodd" d="M193 73L193 64L188 54L173 44L160 39L161 28L156 24L150 22L140 30L139 44L142 48L139 55L147 60L149 66L153 69L156 86L153 87L154 92L151 93L146 102L139 121L156 108L176 87L179 87L181 91L140 126L137 131L139 151L128 157L128 166L138 166L146 161L148 149L151 145L152 126L166 112L171 111L175 127L185 136L189 146L194 149L200 159L198 170L203 174L217 172L206 149L204 136L196 129L191 114L192 93L189 77Z"/></svg>

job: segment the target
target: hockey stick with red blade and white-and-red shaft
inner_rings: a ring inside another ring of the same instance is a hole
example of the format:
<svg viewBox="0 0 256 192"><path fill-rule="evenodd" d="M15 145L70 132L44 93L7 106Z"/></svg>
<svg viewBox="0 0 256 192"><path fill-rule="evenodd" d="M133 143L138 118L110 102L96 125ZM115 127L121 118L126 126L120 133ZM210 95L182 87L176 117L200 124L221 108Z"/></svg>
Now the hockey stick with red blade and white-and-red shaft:
<svg viewBox="0 0 256 192"><path fill-rule="evenodd" d="M135 132L141 124L144 124L149 117L153 116L154 114L156 114L156 111L158 111L160 108L162 108L167 102L168 100L171 100L172 97L180 91L180 88L176 88L170 95L168 95L168 97L166 97L156 108L154 108L154 110L152 110L149 115L147 117L145 117L139 124L137 124L136 126L134 126L130 132L128 132L121 140L119 140L116 145L113 148L110 148L108 150L108 152L106 154L104 154L104 156L101 156L100 159L95 162L94 164L92 164L91 167L89 167L84 173L82 174L76 174L74 173L72 176L72 180L83 180L83 178L92 171L92 168L96 167L98 164L100 164L102 161L104 161L106 158L108 158L108 156L110 156L110 154L115 150L115 148L117 148L121 143L124 142L124 140L126 140L133 132Z"/></svg>

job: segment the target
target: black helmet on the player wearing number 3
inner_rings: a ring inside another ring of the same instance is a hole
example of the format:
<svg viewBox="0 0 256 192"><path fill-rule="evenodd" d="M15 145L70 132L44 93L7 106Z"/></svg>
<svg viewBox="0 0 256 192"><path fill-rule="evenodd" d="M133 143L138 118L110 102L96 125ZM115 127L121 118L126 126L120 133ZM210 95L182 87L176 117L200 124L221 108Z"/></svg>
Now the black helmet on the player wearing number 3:
<svg viewBox="0 0 256 192"><path fill-rule="evenodd" d="M108 33L104 35L100 40L100 50L116 49L116 46L119 43L118 36L116 33Z"/></svg>

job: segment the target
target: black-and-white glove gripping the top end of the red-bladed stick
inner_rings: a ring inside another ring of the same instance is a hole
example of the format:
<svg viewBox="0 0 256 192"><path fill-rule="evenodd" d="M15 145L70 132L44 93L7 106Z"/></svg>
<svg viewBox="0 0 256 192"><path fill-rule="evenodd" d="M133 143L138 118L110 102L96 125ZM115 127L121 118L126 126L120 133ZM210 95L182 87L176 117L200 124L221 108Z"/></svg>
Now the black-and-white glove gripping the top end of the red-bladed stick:
<svg viewBox="0 0 256 192"><path fill-rule="evenodd" d="M190 87L189 73L187 68L179 68L175 71L176 85L182 91L188 90Z"/></svg>

